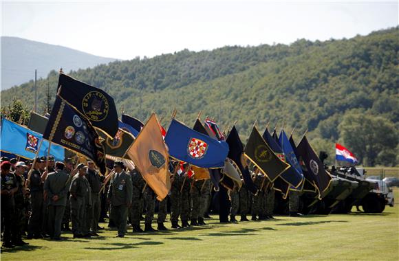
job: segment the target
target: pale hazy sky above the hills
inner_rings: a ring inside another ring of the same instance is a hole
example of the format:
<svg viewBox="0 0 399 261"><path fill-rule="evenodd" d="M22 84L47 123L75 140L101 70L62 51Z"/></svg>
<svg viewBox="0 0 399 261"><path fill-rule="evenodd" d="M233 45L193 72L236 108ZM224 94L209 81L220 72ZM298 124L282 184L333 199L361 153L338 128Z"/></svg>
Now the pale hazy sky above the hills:
<svg viewBox="0 0 399 261"><path fill-rule="evenodd" d="M398 25L398 1L1 1L1 35L131 59L350 38Z"/></svg>

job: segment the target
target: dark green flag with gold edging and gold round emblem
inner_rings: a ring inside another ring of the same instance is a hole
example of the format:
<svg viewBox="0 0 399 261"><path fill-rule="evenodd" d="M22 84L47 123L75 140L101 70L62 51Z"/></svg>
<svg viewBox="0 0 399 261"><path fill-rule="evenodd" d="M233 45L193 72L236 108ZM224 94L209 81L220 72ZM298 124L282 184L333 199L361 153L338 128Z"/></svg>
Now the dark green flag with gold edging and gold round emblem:
<svg viewBox="0 0 399 261"><path fill-rule="evenodd" d="M274 154L255 126L252 128L244 152L246 157L266 174L271 182L290 168L289 164Z"/></svg>

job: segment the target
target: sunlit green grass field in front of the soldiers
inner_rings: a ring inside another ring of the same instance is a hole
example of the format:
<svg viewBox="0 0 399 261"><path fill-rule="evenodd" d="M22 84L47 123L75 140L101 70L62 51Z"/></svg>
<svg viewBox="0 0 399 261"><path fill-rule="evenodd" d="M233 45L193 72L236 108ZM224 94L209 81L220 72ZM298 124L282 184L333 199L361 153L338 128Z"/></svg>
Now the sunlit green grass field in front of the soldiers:
<svg viewBox="0 0 399 261"><path fill-rule="evenodd" d="M3 249L1 260L399 260L398 207L239 224L219 224L213 216L204 227L153 234L129 228L125 238L107 229L93 239L63 234L67 240L27 240L28 247Z"/></svg>

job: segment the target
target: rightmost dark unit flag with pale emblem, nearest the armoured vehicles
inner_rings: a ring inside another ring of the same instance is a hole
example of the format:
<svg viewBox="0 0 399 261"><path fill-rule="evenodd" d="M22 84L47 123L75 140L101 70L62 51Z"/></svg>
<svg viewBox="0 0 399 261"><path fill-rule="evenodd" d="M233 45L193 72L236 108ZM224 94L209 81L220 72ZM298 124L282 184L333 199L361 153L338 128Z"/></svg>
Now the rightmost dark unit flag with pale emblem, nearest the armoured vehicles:
<svg viewBox="0 0 399 261"><path fill-rule="evenodd" d="M303 164L306 171L303 174L309 181L312 181L319 190L319 195L323 194L327 190L332 177L328 172L325 171L323 163L321 163L316 152L314 152L312 146L310 146L308 139L304 136L296 147L299 155L299 163Z"/></svg>

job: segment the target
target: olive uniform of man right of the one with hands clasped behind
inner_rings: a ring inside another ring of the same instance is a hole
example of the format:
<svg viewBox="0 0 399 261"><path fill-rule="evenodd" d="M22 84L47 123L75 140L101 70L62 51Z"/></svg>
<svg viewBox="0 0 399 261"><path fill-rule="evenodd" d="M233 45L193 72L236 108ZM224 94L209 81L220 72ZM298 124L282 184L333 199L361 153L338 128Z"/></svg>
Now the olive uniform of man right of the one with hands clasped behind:
<svg viewBox="0 0 399 261"><path fill-rule="evenodd" d="M82 237L85 231L85 198L89 193L89 182L85 176L76 174L69 188L69 203L71 205L72 232L74 237Z"/></svg>

